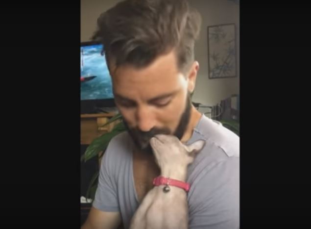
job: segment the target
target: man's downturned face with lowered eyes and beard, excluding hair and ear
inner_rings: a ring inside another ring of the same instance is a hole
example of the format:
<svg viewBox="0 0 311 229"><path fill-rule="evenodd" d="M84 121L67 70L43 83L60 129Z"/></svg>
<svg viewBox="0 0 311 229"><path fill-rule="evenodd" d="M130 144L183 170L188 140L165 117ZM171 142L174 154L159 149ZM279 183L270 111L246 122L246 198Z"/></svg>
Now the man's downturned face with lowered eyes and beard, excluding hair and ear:
<svg viewBox="0 0 311 229"><path fill-rule="evenodd" d="M159 133L181 139L190 119L189 79L179 73L173 52L143 69L121 66L112 80L116 105L140 149L149 149Z"/></svg>

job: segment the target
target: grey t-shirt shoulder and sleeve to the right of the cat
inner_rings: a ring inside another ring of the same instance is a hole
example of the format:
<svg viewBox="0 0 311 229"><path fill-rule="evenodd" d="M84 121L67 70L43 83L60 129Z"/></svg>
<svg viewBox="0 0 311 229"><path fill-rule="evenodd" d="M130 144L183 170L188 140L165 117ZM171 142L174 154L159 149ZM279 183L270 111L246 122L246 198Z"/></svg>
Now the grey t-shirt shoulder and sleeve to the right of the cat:
<svg viewBox="0 0 311 229"><path fill-rule="evenodd" d="M188 170L189 228L238 228L239 136L202 116L191 141L198 139L206 144Z"/></svg>

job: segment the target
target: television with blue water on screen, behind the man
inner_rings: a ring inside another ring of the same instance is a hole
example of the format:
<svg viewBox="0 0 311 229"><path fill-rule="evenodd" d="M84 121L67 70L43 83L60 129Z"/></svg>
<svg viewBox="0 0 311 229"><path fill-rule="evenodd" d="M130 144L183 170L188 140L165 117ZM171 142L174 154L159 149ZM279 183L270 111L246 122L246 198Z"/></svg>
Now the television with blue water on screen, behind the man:
<svg viewBox="0 0 311 229"><path fill-rule="evenodd" d="M80 102L81 113L98 113L115 108L112 80L102 44L81 42Z"/></svg>

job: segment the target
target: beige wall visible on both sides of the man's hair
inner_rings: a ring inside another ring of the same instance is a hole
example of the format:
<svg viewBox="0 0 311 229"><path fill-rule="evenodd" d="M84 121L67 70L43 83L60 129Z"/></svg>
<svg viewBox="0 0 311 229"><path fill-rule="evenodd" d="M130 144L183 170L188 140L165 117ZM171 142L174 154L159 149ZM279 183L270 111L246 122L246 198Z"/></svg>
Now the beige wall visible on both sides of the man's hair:
<svg viewBox="0 0 311 229"><path fill-rule="evenodd" d="M81 41L90 40L96 29L97 17L119 1L81 0ZM232 94L239 93L239 4L229 0L189 0L189 2L202 15L201 35L195 46L195 57L200 64L200 70L192 101L215 105ZM238 77L209 79L207 26L227 23L236 24Z"/></svg>

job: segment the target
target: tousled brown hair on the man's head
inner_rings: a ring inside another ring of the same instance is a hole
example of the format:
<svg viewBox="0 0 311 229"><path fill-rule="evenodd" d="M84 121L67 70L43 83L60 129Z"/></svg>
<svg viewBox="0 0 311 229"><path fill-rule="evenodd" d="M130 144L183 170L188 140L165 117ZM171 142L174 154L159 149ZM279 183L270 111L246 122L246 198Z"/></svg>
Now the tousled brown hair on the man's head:
<svg viewBox="0 0 311 229"><path fill-rule="evenodd" d="M146 67L157 56L175 50L178 68L194 61L194 41L201 17L187 0L124 0L97 19L93 40L103 44L108 67Z"/></svg>

